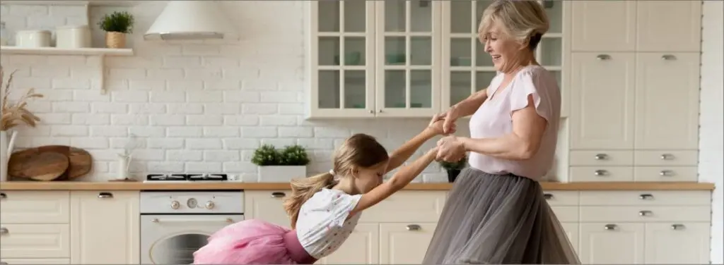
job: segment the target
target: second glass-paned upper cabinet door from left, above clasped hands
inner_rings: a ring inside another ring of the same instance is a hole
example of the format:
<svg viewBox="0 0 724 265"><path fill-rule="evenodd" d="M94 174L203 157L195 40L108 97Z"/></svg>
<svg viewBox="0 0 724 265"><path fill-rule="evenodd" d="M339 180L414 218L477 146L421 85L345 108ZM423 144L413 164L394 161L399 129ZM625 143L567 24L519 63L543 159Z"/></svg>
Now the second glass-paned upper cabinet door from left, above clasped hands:
<svg viewBox="0 0 724 265"><path fill-rule="evenodd" d="M437 113L442 1L375 2L377 116Z"/></svg>

